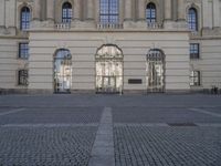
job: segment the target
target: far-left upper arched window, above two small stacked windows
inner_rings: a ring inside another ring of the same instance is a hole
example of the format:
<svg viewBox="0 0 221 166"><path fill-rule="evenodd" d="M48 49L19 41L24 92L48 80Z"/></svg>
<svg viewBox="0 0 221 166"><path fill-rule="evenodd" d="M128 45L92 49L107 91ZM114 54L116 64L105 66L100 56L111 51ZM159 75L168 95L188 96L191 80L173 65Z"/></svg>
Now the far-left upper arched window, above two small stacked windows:
<svg viewBox="0 0 221 166"><path fill-rule="evenodd" d="M28 7L23 7L21 9L21 20L20 20L20 28L21 30L28 30L30 28L30 20L31 20L31 12Z"/></svg>

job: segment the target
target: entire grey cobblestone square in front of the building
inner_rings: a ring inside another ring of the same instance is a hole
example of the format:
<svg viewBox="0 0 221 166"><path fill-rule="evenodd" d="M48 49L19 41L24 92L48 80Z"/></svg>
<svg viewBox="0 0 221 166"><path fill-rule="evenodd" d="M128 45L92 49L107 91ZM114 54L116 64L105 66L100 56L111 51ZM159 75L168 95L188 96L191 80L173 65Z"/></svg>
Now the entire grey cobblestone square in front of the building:
<svg viewBox="0 0 221 166"><path fill-rule="evenodd" d="M2 95L0 166L221 166L220 101Z"/></svg>

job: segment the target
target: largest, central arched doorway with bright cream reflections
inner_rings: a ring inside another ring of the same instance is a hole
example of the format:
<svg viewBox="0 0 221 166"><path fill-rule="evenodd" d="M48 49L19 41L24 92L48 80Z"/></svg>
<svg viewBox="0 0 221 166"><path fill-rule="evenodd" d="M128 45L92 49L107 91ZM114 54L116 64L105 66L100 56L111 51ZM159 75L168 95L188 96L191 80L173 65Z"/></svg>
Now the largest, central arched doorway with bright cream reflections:
<svg viewBox="0 0 221 166"><path fill-rule="evenodd" d="M96 92L122 93L123 90L123 52L114 44L99 48L96 60Z"/></svg>

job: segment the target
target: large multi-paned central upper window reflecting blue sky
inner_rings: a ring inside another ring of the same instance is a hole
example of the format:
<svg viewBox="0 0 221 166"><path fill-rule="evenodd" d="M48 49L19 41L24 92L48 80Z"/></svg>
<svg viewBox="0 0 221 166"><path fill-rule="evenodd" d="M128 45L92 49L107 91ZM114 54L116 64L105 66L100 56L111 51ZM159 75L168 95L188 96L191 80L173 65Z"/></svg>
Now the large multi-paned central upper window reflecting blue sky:
<svg viewBox="0 0 221 166"><path fill-rule="evenodd" d="M118 0L99 0L99 22L118 24Z"/></svg>

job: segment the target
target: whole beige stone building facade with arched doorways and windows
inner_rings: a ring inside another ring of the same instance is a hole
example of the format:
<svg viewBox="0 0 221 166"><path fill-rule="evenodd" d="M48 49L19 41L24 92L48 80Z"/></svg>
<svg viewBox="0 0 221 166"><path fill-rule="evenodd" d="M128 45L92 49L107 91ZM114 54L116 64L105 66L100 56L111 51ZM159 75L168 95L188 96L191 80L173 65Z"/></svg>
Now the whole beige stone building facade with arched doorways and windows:
<svg viewBox="0 0 221 166"><path fill-rule="evenodd" d="M220 0L0 0L0 91L221 87Z"/></svg>

